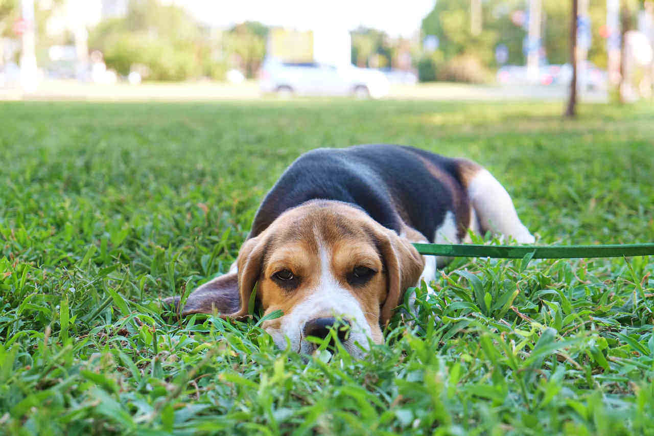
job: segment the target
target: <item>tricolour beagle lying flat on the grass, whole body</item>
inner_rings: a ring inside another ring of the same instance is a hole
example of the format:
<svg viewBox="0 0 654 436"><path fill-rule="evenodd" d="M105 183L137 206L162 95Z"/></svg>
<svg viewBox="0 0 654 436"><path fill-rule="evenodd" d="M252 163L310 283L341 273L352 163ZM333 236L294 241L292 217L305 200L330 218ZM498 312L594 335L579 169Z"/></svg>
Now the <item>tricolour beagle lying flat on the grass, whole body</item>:
<svg viewBox="0 0 654 436"><path fill-rule="evenodd" d="M398 145L313 150L267 193L230 272L193 291L181 315L245 318L256 287L264 314L282 312L262 324L279 348L310 354L307 336L334 329L361 357L407 288L448 260L412 243L466 242L468 230L534 242L504 187L470 160ZM165 302L179 310L179 297Z"/></svg>

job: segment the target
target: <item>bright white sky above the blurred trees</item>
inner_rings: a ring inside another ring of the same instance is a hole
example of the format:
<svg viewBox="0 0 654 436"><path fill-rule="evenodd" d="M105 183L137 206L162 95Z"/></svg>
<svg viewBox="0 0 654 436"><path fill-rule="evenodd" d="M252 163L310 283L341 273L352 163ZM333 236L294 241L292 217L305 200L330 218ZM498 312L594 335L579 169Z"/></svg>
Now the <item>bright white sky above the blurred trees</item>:
<svg viewBox="0 0 654 436"><path fill-rule="evenodd" d="M169 0L208 24L229 26L246 20L298 30L360 25L392 37L410 37L433 9L435 0Z"/></svg>

